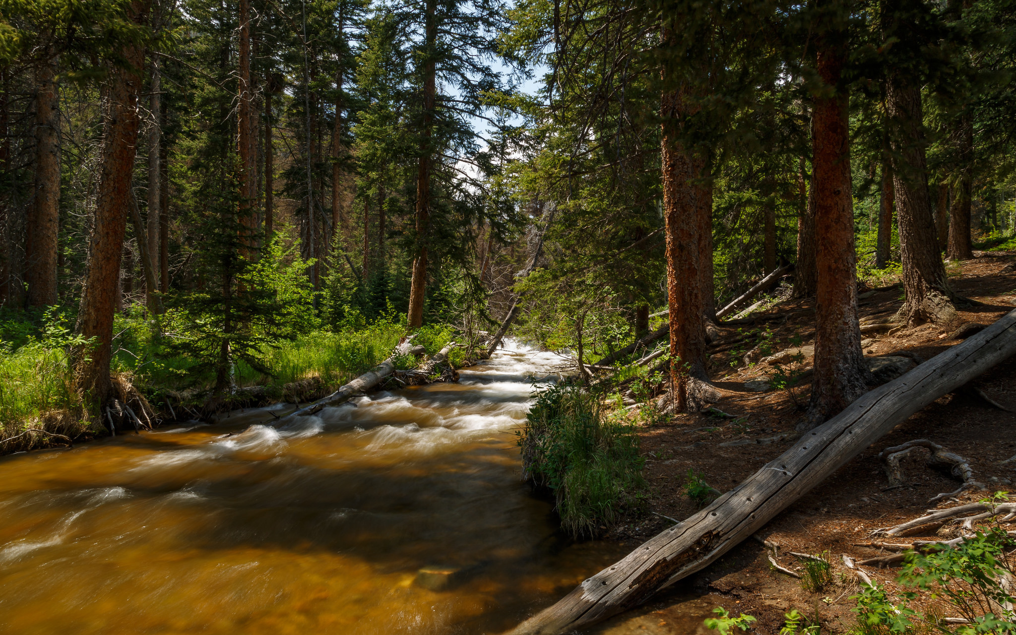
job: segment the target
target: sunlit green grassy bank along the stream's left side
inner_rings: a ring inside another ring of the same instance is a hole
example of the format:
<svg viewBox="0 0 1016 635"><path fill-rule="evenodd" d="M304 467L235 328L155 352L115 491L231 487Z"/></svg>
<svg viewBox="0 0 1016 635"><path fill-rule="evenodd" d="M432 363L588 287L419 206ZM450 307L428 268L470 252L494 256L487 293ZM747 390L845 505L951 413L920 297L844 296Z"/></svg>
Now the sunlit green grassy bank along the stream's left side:
<svg viewBox="0 0 1016 635"><path fill-rule="evenodd" d="M187 337L178 323L166 316L158 333L137 312L118 315L114 330L113 376L166 414L167 400L173 399L179 410L181 398L197 411L215 379L206 363L174 345ZM241 389L264 386L268 400L314 398L376 366L404 335L400 315L314 328L266 343L259 369L237 362L234 381ZM453 336L447 325L429 325L418 330L415 341L433 355ZM67 315L56 310L0 313L0 454L106 434L101 422L88 419L73 387L70 350L80 340ZM237 394L240 404L244 393ZM227 399L219 407L232 405Z"/></svg>

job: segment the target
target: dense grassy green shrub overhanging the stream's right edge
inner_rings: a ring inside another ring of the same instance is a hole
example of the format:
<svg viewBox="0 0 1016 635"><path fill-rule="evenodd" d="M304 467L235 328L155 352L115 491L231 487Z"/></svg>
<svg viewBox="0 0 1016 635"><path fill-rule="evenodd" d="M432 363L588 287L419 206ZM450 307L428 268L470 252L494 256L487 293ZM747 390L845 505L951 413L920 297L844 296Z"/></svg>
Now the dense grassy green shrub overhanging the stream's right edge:
<svg viewBox="0 0 1016 635"><path fill-rule="evenodd" d="M614 525L646 485L635 428L606 417L599 395L579 385L538 392L517 435L524 478L554 492L575 537Z"/></svg>

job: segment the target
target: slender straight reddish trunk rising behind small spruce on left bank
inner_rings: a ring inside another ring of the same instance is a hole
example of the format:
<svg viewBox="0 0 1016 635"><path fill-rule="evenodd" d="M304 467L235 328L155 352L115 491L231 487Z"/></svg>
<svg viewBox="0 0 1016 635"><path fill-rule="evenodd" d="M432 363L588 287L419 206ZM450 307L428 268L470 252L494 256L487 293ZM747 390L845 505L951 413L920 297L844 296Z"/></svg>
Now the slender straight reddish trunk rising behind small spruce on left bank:
<svg viewBox="0 0 1016 635"><path fill-rule="evenodd" d="M240 224L247 231L247 235L242 237L242 244L245 249L243 256L251 258L254 247L254 217L253 202L257 189L255 183L254 158L257 155L255 144L257 136L254 134L251 124L252 108L251 103L254 93L251 89L251 3L250 0L240 0L240 43L239 43L239 71L240 81L238 86L237 105L237 154L240 158Z"/></svg>

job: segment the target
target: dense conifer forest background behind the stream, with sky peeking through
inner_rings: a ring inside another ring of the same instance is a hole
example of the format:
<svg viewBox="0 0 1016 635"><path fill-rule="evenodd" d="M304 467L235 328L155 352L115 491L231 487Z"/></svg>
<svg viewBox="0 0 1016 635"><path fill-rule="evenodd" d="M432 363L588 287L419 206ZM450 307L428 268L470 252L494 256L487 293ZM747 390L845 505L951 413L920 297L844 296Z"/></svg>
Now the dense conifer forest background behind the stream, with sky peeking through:
<svg viewBox="0 0 1016 635"><path fill-rule="evenodd" d="M829 103L858 278L924 266L901 220L929 271L1012 248L1014 18L1008 0L3 0L0 419L69 434L105 426L113 393L325 390L407 329L429 350L496 330L516 298L516 334L594 363L669 302L676 319L682 280L706 317L781 265L796 289L775 293L812 295Z"/></svg>

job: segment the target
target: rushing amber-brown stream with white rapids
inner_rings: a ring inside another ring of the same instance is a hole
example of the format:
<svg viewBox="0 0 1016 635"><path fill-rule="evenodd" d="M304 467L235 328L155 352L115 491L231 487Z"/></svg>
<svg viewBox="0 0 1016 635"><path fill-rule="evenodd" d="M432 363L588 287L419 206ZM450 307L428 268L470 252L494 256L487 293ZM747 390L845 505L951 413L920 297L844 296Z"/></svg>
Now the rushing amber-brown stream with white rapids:
<svg viewBox="0 0 1016 635"><path fill-rule="evenodd" d="M512 431L557 361L0 459L0 632L509 627L621 553L565 539L519 481Z"/></svg>

